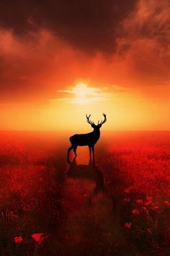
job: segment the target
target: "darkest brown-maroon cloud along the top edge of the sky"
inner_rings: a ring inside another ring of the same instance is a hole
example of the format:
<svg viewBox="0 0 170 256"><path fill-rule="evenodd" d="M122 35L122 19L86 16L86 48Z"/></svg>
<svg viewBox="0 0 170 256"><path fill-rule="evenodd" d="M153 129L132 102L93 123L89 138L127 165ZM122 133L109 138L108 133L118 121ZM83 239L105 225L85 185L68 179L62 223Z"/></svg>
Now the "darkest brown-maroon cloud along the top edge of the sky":
<svg viewBox="0 0 170 256"><path fill-rule="evenodd" d="M0 26L17 34L48 29L84 51L112 52L138 0L1 1Z"/></svg>

